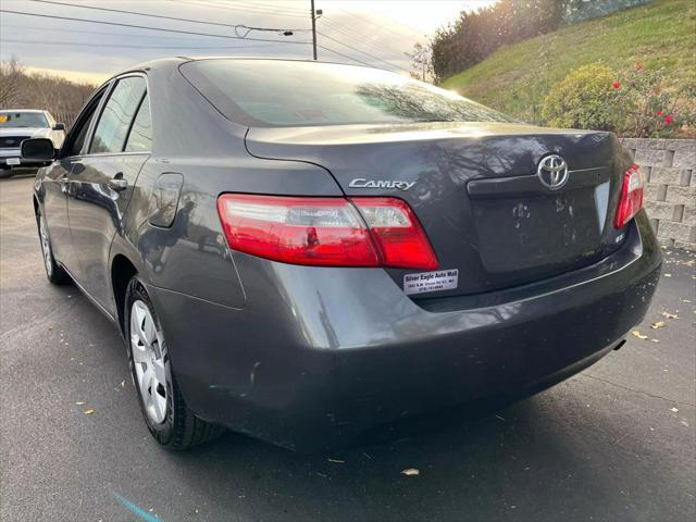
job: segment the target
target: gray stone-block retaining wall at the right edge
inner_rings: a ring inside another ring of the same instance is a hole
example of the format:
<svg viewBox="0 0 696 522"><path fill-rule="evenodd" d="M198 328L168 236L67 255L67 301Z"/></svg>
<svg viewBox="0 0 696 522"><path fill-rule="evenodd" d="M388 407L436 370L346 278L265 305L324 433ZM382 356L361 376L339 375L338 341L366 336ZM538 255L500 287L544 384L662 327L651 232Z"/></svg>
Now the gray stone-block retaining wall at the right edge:
<svg viewBox="0 0 696 522"><path fill-rule="evenodd" d="M662 245L696 251L696 139L623 138L645 179L645 209Z"/></svg>

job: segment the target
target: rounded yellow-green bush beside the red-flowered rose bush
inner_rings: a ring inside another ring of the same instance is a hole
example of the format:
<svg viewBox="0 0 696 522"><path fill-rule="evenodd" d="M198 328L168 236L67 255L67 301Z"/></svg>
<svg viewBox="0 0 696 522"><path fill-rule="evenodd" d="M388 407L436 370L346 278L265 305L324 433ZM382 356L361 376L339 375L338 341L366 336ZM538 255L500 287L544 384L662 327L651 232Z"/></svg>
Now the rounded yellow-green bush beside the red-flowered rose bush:
<svg viewBox="0 0 696 522"><path fill-rule="evenodd" d="M542 107L549 125L567 128L619 130L622 125L620 84L616 73L600 63L571 71L554 86Z"/></svg>

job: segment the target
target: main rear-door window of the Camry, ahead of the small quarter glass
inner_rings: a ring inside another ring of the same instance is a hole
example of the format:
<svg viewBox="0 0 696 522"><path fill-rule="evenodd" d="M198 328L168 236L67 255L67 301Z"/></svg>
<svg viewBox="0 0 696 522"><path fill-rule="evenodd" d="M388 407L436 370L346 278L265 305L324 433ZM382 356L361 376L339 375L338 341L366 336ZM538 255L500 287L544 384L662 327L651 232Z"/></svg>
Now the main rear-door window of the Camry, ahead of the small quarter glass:
<svg viewBox="0 0 696 522"><path fill-rule="evenodd" d="M136 111L147 90L145 78L120 79L99 117L89 153L122 152Z"/></svg>

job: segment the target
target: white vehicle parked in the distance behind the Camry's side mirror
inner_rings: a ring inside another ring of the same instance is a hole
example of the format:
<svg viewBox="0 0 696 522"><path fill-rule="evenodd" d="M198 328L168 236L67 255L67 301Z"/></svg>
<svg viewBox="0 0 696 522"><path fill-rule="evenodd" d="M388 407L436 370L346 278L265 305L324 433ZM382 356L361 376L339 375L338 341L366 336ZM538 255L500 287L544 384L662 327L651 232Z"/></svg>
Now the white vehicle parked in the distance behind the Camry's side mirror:
<svg viewBox="0 0 696 522"><path fill-rule="evenodd" d="M29 138L48 138L55 149L60 149L65 139L65 125L55 123L48 111L0 110L0 169L5 171L5 175L13 167L44 164L21 158L20 146Z"/></svg>

